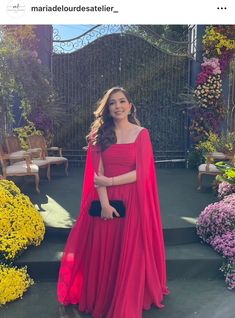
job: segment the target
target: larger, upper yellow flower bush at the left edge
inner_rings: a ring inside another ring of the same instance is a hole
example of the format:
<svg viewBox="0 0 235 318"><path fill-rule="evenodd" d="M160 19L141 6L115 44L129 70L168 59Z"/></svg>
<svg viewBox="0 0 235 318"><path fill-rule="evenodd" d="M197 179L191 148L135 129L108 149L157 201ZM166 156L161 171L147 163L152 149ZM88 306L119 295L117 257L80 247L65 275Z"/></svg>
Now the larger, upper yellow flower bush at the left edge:
<svg viewBox="0 0 235 318"><path fill-rule="evenodd" d="M29 245L39 245L45 225L28 196L8 180L0 180L0 255L13 260Z"/></svg>

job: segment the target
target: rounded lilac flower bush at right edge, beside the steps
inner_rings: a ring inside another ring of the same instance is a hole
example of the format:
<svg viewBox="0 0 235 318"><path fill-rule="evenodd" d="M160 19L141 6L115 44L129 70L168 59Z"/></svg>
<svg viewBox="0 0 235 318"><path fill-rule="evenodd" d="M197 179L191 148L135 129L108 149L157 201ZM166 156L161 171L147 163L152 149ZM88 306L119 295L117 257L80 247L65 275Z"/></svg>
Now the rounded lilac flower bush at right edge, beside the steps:
<svg viewBox="0 0 235 318"><path fill-rule="evenodd" d="M224 200L208 205L197 220L197 234L206 243L216 235L222 235L235 228L235 208Z"/></svg>

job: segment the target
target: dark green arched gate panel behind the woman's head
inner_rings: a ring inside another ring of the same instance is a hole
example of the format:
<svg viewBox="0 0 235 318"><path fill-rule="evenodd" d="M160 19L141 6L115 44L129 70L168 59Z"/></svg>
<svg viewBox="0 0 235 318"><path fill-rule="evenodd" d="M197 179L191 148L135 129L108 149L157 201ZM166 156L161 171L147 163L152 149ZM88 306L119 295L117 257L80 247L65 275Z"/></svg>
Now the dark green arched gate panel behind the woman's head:
<svg viewBox="0 0 235 318"><path fill-rule="evenodd" d="M57 49L52 58L54 83L69 115L55 142L77 160L96 101L108 88L121 85L129 91L142 125L150 130L156 158L184 158L187 118L176 103L189 83L187 45L179 50L173 43L174 50L163 41L156 44L126 30L82 44L72 53Z"/></svg>

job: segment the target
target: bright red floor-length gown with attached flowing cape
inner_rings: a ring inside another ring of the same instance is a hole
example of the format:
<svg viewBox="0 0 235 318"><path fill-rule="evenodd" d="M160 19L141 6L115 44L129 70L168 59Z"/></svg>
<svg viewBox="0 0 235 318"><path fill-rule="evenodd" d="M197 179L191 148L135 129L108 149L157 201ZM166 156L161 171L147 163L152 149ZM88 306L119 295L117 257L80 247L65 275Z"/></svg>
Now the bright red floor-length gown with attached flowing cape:
<svg viewBox="0 0 235 318"><path fill-rule="evenodd" d="M93 180L100 155L108 177L136 169L136 182L107 187L109 199L124 202L125 218L105 221L88 214L98 199ZM144 128L133 143L103 152L88 148L80 215L64 250L58 301L78 304L94 318L140 318L152 304L164 307L168 293L153 151Z"/></svg>

